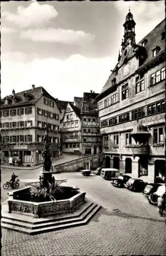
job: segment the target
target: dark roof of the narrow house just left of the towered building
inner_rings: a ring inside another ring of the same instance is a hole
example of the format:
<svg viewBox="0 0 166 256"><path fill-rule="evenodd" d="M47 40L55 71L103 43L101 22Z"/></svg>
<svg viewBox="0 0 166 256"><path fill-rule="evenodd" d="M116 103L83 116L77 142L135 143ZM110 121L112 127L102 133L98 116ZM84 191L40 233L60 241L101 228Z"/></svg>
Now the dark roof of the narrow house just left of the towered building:
<svg viewBox="0 0 166 256"><path fill-rule="evenodd" d="M98 95L99 93L83 94L81 113L97 113L97 102L95 99Z"/></svg>

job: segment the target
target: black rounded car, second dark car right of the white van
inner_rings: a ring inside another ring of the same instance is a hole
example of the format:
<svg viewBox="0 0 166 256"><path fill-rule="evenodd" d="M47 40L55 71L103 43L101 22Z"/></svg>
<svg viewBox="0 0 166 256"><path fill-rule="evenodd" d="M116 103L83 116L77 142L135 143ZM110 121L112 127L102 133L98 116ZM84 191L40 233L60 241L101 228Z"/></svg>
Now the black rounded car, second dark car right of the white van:
<svg viewBox="0 0 166 256"><path fill-rule="evenodd" d="M147 185L147 183L145 183L143 180L138 179L138 178L130 178L124 184L124 186L126 188L130 189L131 191L135 191L135 192L143 191L146 185Z"/></svg>

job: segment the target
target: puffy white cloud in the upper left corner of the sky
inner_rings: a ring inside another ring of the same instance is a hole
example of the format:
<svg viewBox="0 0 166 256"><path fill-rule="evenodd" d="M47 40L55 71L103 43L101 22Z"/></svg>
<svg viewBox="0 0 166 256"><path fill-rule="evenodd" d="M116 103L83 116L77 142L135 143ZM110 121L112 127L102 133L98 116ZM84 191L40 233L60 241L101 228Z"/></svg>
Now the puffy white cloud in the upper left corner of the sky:
<svg viewBox="0 0 166 256"><path fill-rule="evenodd" d="M57 15L58 12L52 5L40 5L37 2L31 3L28 7L18 6L17 13L3 13L6 20L20 28L43 26Z"/></svg>

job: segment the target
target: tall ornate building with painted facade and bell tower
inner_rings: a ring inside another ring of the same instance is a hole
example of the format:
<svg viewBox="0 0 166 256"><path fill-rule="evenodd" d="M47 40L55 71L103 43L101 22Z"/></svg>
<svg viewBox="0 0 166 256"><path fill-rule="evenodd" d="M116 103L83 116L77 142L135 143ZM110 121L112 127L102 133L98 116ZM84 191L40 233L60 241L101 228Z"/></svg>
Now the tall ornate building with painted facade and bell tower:
<svg viewBox="0 0 166 256"><path fill-rule="evenodd" d="M118 63L97 96L106 167L154 182L165 178L165 21L138 44L126 16Z"/></svg>

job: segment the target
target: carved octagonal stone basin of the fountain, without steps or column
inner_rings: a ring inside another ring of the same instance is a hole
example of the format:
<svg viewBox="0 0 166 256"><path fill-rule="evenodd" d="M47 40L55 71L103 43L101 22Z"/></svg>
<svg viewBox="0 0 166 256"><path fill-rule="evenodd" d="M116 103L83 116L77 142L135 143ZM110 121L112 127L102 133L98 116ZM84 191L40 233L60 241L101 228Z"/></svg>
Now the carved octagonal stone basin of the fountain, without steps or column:
<svg viewBox="0 0 166 256"><path fill-rule="evenodd" d="M40 218L49 215L56 215L61 213L73 212L85 202L86 193L78 191L72 187L60 186L62 190L66 191L66 199L56 200L55 197L50 196L44 202L30 201L30 191L32 186L17 189L8 193L8 207L9 213L33 216ZM57 195L60 198L60 194ZM64 198L64 195L62 195Z"/></svg>

